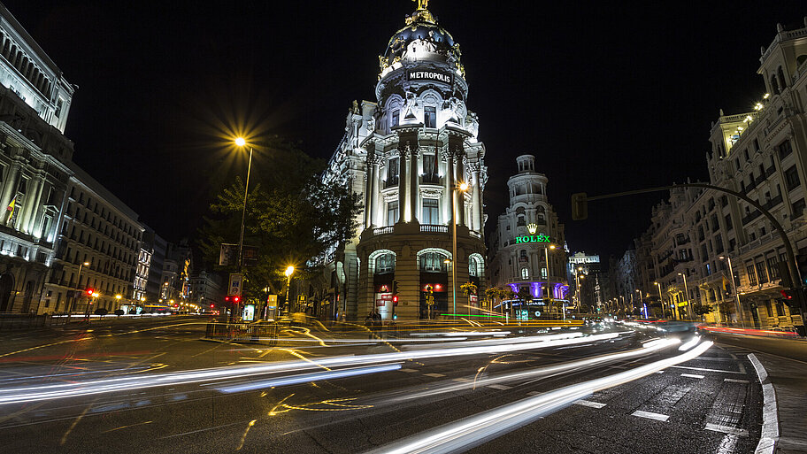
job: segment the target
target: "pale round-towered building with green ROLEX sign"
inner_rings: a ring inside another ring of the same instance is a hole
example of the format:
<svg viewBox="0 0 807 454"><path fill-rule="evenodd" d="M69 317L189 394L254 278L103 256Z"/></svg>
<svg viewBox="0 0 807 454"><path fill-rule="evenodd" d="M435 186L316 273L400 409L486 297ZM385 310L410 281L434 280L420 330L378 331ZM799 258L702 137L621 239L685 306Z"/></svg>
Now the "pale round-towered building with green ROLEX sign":
<svg viewBox="0 0 807 454"><path fill-rule="evenodd" d="M499 215L490 240L490 281L515 293L526 289L535 305L548 306L548 297L569 296L564 225L547 197L549 179L535 170L535 157L519 156L516 164L519 173L507 181L510 205ZM526 304L526 298L519 299L517 304Z"/></svg>

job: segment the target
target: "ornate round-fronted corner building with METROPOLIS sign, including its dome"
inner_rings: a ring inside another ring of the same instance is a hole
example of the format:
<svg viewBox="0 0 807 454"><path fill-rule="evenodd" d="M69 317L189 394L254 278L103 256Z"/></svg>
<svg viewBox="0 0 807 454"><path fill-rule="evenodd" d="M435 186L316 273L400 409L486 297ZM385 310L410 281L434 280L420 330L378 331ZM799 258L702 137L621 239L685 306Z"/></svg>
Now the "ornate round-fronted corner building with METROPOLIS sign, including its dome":
<svg viewBox="0 0 807 454"><path fill-rule="evenodd" d="M390 38L379 65L376 102L354 102L323 177L350 185L364 197L364 211L353 241L324 258L324 289L310 298L322 305L314 312L346 319L376 311L382 319L450 313L455 264L456 311L478 312L478 297L460 286L473 282L477 293L485 287L487 168L479 121L465 104L459 44L420 5ZM465 191L458 189L463 182Z"/></svg>

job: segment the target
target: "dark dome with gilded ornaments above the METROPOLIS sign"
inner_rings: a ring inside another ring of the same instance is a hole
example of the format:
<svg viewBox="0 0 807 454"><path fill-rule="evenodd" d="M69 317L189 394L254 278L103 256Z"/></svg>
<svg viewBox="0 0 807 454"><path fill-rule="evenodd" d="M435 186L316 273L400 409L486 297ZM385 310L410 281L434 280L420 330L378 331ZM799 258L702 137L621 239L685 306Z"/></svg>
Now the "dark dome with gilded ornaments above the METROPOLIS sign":
<svg viewBox="0 0 807 454"><path fill-rule="evenodd" d="M387 50L379 56L381 77L402 60L446 63L465 76L459 44L445 28L437 25L437 19L426 9L425 3L419 2L418 10L407 16L406 27L389 38Z"/></svg>

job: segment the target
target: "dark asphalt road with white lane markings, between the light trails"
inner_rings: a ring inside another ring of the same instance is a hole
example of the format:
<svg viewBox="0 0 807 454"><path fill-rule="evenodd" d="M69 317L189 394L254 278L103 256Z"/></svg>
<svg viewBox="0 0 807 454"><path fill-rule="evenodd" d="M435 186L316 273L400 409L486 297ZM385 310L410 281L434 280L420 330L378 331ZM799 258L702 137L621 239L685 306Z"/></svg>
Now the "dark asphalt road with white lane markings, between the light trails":
<svg viewBox="0 0 807 454"><path fill-rule="evenodd" d="M496 351L454 355L441 353L446 338L367 342L366 335L300 329L284 333L273 348L205 342L203 322L96 325L42 332L39 339L0 336L3 452L357 453L401 446L405 452L402 443L448 436L457 442L430 452L742 453L753 452L760 435L761 390L739 347L712 346L697 358L614 384L613 377L684 353L678 345L647 348L651 335L625 333L624 327L587 332L622 332L610 339L575 337L577 343L539 342L512 351L506 350L526 336L565 332L530 328L493 340L480 336L452 341L451 351L477 345L495 345ZM418 358L327 363L399 351ZM424 358L424 351L437 353ZM332 357L340 359L327 359ZM250 372L291 360L309 366ZM234 373L176 379L175 373L204 368ZM347 370L364 374L298 376ZM296 374L296 384L269 381ZM155 385L154 376L173 381ZM88 396L36 394L42 387L91 380L98 382L70 389L99 389L109 379L134 384ZM35 397L13 402L27 395ZM513 409L515 416L508 413ZM443 435L457 425L466 426L462 435Z"/></svg>

